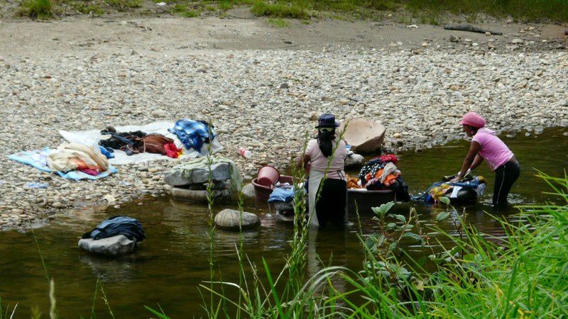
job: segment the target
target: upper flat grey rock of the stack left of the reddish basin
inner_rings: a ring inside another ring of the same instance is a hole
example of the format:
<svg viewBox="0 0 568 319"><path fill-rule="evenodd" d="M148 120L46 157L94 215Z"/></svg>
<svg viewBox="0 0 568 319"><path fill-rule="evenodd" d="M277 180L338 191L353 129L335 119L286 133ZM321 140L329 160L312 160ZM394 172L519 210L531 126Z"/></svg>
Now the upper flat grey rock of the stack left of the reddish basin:
<svg viewBox="0 0 568 319"><path fill-rule="evenodd" d="M226 181L231 179L231 169L229 163L217 163L211 165L212 181ZM195 168L185 169L183 167L174 167L164 173L165 184L171 186L185 186L192 184L203 184L209 181L209 169Z"/></svg>

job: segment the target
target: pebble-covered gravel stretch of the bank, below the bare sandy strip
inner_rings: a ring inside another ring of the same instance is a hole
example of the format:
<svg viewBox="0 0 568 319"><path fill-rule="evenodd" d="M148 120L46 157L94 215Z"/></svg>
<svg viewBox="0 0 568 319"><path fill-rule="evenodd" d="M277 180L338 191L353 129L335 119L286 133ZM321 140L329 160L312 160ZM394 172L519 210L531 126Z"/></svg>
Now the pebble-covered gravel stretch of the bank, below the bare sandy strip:
<svg viewBox="0 0 568 319"><path fill-rule="evenodd" d="M466 111L507 132L568 126L565 51L344 48L0 58L0 79L0 228L25 227L62 209L163 194L163 171L175 161L123 165L107 179L73 182L7 159L18 150L56 147L59 129L210 120L222 155L250 178L261 164L285 167L323 112L383 121L386 147L397 150L461 138L457 121ZM249 148L253 158L245 162L238 147ZM29 189L29 181L49 186Z"/></svg>

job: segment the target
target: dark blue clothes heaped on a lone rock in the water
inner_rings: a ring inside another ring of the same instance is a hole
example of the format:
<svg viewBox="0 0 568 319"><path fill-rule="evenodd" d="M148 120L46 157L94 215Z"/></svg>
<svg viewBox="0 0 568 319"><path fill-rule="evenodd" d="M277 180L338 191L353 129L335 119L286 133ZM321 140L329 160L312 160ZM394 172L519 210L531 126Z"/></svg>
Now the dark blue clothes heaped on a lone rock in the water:
<svg viewBox="0 0 568 319"><path fill-rule="evenodd" d="M96 228L84 233L82 238L100 240L117 235L124 235L129 240L136 240L136 242L141 242L146 238L142 224L136 218L127 216L112 216L107 220L103 220Z"/></svg>

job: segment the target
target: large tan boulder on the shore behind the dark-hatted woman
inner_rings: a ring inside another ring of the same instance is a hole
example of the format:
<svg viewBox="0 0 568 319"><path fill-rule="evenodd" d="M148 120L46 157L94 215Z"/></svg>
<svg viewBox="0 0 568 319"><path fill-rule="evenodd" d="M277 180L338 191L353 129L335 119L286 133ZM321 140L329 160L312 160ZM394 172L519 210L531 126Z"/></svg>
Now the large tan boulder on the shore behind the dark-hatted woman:
<svg viewBox="0 0 568 319"><path fill-rule="evenodd" d="M351 150L360 153L372 153L381 148L385 130L381 123L364 118L351 118L343 121L339 127L339 132L344 132L343 139L351 145Z"/></svg>

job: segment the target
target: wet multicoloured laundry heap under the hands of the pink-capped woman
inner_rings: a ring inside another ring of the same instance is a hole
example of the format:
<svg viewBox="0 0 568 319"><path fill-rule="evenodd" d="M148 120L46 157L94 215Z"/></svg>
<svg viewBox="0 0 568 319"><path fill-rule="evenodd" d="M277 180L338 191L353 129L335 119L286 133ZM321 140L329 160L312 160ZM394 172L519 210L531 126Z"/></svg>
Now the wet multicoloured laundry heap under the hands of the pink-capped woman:
<svg viewBox="0 0 568 319"><path fill-rule="evenodd" d="M486 189L486 180L482 176L467 174L457 182L450 182L455 176L444 177L428 187L418 196L413 196L414 201L422 201L428 204L440 202L442 196L448 197L454 204L473 204L482 196Z"/></svg>

